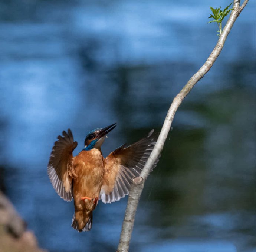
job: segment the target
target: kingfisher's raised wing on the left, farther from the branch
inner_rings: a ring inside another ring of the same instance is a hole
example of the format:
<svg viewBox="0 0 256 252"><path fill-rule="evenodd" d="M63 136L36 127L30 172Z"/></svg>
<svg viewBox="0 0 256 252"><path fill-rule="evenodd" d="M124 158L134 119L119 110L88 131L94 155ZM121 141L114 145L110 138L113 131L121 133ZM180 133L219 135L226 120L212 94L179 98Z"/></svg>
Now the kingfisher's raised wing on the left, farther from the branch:
<svg viewBox="0 0 256 252"><path fill-rule="evenodd" d="M77 146L74 142L70 129L68 133L62 132L62 136L58 136L58 141L54 143L47 173L53 188L57 194L65 201L72 200L72 152Z"/></svg>

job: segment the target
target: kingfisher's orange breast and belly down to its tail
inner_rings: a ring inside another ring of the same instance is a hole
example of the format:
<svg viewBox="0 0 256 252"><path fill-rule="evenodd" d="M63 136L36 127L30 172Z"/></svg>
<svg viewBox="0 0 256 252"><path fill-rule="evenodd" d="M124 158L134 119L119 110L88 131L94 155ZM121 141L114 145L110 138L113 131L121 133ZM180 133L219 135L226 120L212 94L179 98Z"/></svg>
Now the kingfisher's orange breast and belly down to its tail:
<svg viewBox="0 0 256 252"><path fill-rule="evenodd" d="M91 149L80 152L74 158L73 169L76 178L73 178L75 216L72 225L77 225L78 230L87 231L91 229L92 211L97 205L104 175L101 151Z"/></svg>

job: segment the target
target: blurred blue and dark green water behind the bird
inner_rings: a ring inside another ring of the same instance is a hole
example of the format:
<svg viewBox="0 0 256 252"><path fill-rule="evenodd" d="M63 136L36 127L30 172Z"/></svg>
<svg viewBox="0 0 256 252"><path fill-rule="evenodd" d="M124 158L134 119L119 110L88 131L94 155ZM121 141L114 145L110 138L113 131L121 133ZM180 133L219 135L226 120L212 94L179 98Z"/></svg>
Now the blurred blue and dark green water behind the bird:
<svg viewBox="0 0 256 252"><path fill-rule="evenodd" d="M217 42L210 9L231 1L1 0L1 189L50 252L110 252L127 197L71 228L47 162L63 130L117 122L102 151L160 131L174 96ZM135 219L131 252L253 252L255 1L175 115ZM223 8L224 9L224 8ZM224 20L226 23L227 18Z"/></svg>

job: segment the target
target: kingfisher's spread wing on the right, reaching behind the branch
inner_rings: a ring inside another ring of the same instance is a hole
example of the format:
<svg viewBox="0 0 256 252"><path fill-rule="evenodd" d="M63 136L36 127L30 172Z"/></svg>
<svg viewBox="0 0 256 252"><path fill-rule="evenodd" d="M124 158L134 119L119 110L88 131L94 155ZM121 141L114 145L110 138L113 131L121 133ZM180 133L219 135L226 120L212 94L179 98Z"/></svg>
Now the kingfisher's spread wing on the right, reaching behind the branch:
<svg viewBox="0 0 256 252"><path fill-rule="evenodd" d="M129 194L132 179L140 175L154 149L158 134L153 132L154 130L151 130L147 137L126 148L125 144L122 145L106 157L105 173L99 195L102 202L115 202ZM157 162L158 159L154 167Z"/></svg>

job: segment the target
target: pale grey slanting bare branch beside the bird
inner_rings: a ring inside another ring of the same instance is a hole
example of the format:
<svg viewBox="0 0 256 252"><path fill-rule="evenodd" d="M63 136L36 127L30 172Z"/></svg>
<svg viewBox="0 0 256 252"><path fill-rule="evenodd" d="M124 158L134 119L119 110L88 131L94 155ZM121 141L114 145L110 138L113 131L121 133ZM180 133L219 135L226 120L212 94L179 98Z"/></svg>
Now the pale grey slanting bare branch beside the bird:
<svg viewBox="0 0 256 252"><path fill-rule="evenodd" d="M203 66L190 78L190 80L182 88L180 93L178 93L177 96L173 99L173 102L171 103L171 106L165 117L164 124L161 129L155 148L153 149L150 157L148 158L148 161L146 162L144 168L142 169L140 177L134 178L132 181L133 183L131 185L131 189L129 192L129 198L128 198L127 207L125 209L125 217L122 224L122 231L120 235L119 245L116 252L128 252L129 250L129 244L130 244L132 229L134 225L134 218L135 218L138 202L140 200L140 196L144 188L145 180L147 179L150 173L151 167L154 165L158 155L161 153L164 147L164 142L170 131L171 123L173 122L173 118L178 107L182 103L183 99L194 87L194 85L196 85L196 83L199 80L201 80L201 78L204 77L204 75L210 70L213 63L216 61L217 57L219 56L224 46L226 38L229 35L229 32L234 22L236 21L237 17L239 16L243 8L246 6L248 1L249 0L245 0L241 7L240 7L240 0L233 1L233 10L209 58L207 58Z"/></svg>

